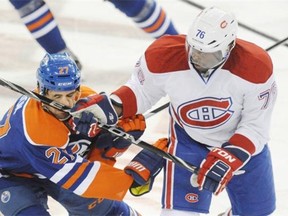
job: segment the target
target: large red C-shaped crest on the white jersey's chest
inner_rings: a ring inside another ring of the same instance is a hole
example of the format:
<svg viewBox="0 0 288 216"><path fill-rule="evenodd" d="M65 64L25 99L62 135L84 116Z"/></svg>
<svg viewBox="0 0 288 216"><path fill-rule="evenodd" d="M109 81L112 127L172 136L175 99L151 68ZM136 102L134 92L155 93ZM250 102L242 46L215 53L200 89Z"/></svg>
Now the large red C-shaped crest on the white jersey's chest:
<svg viewBox="0 0 288 216"><path fill-rule="evenodd" d="M233 115L232 100L228 98L201 98L178 108L181 122L193 128L211 129L227 122Z"/></svg>

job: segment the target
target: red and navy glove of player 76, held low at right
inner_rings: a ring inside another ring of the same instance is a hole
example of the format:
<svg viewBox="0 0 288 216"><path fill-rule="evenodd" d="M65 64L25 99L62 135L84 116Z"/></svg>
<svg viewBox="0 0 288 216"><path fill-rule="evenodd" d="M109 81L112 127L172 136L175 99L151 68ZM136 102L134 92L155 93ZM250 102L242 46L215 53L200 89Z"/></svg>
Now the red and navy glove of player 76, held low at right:
<svg viewBox="0 0 288 216"><path fill-rule="evenodd" d="M250 158L248 151L229 143L223 144L222 148L213 148L202 161L198 177L192 175L191 184L218 195Z"/></svg>

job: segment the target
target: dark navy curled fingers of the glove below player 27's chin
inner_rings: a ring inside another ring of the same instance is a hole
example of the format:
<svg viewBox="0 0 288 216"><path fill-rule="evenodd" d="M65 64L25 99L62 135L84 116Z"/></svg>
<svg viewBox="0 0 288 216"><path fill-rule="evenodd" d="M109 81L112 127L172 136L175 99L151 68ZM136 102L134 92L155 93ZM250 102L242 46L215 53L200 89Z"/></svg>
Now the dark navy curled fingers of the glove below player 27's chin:
<svg viewBox="0 0 288 216"><path fill-rule="evenodd" d="M70 118L68 124L73 131L88 137L95 137L100 131L94 115L90 112L82 112L79 117Z"/></svg>

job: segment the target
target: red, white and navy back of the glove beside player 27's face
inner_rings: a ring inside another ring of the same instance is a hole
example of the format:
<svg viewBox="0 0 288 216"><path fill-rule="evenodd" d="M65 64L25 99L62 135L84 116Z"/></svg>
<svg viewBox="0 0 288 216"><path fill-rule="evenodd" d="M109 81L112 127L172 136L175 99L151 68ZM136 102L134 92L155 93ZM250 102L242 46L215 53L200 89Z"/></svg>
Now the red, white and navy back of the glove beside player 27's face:
<svg viewBox="0 0 288 216"><path fill-rule="evenodd" d="M91 112L97 121L103 124L114 126L118 121L118 115L106 93L95 94L79 99L71 108L70 114L73 117L81 119L82 112Z"/></svg>

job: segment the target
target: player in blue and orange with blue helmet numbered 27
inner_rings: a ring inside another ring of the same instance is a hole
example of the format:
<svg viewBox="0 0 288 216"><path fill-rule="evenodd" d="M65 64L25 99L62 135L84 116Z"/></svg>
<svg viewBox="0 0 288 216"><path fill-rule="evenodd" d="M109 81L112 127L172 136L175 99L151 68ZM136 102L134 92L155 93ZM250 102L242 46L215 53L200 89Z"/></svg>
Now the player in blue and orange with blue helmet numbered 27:
<svg viewBox="0 0 288 216"><path fill-rule="evenodd" d="M80 71L66 53L43 58L37 83L35 91L68 107L96 94L80 86ZM0 121L0 214L49 215L47 197L51 196L69 215L140 215L122 200L130 187L150 186L164 159L143 150L125 171L117 169L113 167L116 157L131 143L101 131L96 121L88 136L76 133L69 119L69 114L26 96L4 115ZM141 115L125 118L118 127L137 139L144 132L145 119ZM167 142L156 144L163 149ZM135 169L135 163L143 169Z"/></svg>

